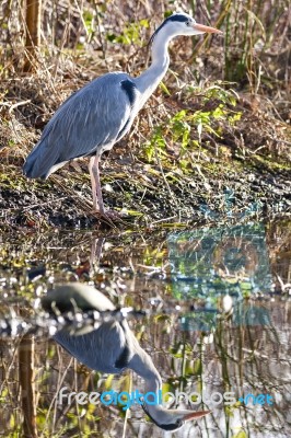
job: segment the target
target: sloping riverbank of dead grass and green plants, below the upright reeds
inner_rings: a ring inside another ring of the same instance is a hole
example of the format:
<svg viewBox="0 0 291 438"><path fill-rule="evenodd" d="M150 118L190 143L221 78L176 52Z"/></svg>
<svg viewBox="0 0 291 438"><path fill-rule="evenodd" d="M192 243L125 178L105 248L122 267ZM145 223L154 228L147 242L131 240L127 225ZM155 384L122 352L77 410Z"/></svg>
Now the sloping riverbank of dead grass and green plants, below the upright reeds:
<svg viewBox="0 0 291 438"><path fill-rule="evenodd" d="M2 227L104 223L92 212L88 159L67 164L47 181L22 175L40 130L73 91L72 79L54 87L55 94L48 93L42 77L10 80L2 89L10 90L2 106ZM202 95L199 89L178 94L173 88L170 95L160 89L131 134L103 157L105 205L121 211L125 224L144 227L286 215L291 192L289 150L290 127L264 112L258 96L238 95L219 84L209 84Z"/></svg>

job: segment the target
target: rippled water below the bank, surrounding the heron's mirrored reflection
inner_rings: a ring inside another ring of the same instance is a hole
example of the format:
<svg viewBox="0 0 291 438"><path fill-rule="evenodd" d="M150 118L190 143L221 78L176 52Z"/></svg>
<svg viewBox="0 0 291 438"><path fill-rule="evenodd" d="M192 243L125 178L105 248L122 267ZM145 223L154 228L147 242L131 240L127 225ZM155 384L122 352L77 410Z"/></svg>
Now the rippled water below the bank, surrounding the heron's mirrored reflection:
<svg viewBox="0 0 291 438"><path fill-rule="evenodd" d="M11 232L0 246L0 435L291 436L290 274L286 221L103 237ZM193 394L193 403L172 407L211 413L171 435L138 404L125 410L126 397L119 405L60 404L65 387L144 390L133 371L91 372L51 339L40 298L68 281L95 285L115 306L132 307L129 327L163 392ZM225 392L235 399L229 405Z"/></svg>

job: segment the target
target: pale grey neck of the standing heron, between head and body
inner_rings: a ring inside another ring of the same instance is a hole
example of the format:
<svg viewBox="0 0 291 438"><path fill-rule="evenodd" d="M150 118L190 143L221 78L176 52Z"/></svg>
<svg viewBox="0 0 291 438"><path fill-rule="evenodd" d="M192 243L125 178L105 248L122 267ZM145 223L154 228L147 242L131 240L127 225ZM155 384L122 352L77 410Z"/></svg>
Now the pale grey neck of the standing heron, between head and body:
<svg viewBox="0 0 291 438"><path fill-rule="evenodd" d="M152 64L143 73L136 78L136 84L142 94L142 105L154 92L166 73L170 64L167 46L172 37L173 35L168 35L163 30L158 33L152 43Z"/></svg>

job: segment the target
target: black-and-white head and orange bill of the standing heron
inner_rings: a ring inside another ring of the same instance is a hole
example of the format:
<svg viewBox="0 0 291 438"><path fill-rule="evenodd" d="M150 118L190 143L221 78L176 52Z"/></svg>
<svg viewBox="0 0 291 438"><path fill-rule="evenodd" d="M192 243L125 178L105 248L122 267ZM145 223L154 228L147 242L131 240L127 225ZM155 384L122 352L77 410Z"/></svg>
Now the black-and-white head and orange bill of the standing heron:
<svg viewBox="0 0 291 438"><path fill-rule="evenodd" d="M222 34L218 28L196 23L196 21L185 12L176 12L164 20L152 35L150 42L152 43L160 33L166 33L171 37L177 35L202 35L205 33Z"/></svg>

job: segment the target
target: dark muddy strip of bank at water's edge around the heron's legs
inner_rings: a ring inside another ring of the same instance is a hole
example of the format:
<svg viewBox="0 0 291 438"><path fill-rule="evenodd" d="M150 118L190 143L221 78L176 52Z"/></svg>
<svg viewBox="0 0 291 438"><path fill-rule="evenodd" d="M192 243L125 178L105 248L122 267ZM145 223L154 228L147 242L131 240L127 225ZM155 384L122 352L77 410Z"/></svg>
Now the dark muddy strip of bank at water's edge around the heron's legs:
<svg viewBox="0 0 291 438"><path fill-rule="evenodd" d="M120 161L112 154L103 166L104 199L107 207L125 211L124 221L131 224L151 226L160 220L211 223L290 212L288 171L264 168L259 161L246 169L238 161L216 163L211 169L197 166L191 174L174 174L175 181L168 178L167 184L159 169L147 173L140 163ZM10 165L7 176L5 165L0 169L2 227L83 229L100 223L92 214L85 163L82 173L67 165L45 182L26 180L20 166Z"/></svg>

